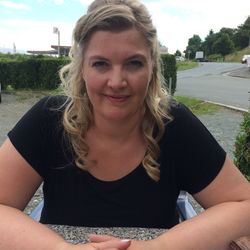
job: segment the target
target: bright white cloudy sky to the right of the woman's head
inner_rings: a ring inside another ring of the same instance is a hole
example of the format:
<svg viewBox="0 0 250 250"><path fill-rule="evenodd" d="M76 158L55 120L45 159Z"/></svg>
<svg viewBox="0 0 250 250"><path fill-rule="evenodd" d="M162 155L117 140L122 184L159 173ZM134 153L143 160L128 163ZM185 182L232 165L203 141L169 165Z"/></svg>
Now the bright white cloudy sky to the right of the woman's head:
<svg viewBox="0 0 250 250"><path fill-rule="evenodd" d="M226 0L142 0L148 7L158 30L159 40L171 53L183 51L194 34L202 40L209 30L237 28L250 15L250 1Z"/></svg>

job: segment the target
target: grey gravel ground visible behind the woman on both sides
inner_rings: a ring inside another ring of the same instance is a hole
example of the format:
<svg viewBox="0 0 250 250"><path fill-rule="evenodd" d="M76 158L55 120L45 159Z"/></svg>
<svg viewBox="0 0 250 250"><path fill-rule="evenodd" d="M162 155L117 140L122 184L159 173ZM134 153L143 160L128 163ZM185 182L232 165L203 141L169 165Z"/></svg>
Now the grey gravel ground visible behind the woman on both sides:
<svg viewBox="0 0 250 250"><path fill-rule="evenodd" d="M40 97L41 95L32 95L26 98L24 96L2 94L2 103L0 104L0 144L6 139L8 131ZM199 116L199 119L233 158L234 141L240 130L239 125L243 119L242 113L220 108L214 114ZM25 212L29 214L41 199L42 191L40 187L26 207ZM195 209L200 212L202 210L200 206L191 197L190 200Z"/></svg>

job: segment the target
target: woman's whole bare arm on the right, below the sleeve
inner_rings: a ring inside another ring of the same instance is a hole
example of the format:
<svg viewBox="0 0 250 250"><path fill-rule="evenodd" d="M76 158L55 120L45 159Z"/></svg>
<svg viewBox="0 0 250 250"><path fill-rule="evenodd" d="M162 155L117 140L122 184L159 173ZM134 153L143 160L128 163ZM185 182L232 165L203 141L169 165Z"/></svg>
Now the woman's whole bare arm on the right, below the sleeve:
<svg viewBox="0 0 250 250"><path fill-rule="evenodd" d="M129 250L226 250L241 236L250 235L250 184L226 158L214 181L195 199L206 210L150 241L132 241ZM111 239L94 235L93 242Z"/></svg>

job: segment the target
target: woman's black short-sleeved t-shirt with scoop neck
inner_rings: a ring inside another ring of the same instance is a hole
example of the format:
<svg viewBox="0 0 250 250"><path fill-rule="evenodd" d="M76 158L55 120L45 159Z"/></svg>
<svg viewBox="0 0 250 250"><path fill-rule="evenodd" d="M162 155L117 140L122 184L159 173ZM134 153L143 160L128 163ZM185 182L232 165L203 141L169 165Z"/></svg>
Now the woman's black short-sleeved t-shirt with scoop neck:
<svg viewBox="0 0 250 250"><path fill-rule="evenodd" d="M8 134L44 179L42 223L170 228L178 223L179 191L201 191L225 161L225 151L202 123L183 104L172 102L174 119L159 143L160 181L153 181L142 164L119 180L98 180L74 163L62 126L65 100L43 98Z"/></svg>

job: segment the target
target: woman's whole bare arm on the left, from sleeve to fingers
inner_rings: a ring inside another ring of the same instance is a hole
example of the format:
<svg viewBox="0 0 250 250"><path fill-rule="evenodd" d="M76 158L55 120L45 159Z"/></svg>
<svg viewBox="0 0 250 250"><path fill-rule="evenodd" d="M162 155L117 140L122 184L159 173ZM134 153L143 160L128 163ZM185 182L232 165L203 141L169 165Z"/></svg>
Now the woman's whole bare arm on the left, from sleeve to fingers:
<svg viewBox="0 0 250 250"><path fill-rule="evenodd" d="M51 229L22 211L40 186L42 178L16 151L9 139L0 148L0 249L94 250L127 249L129 241L71 245Z"/></svg>

